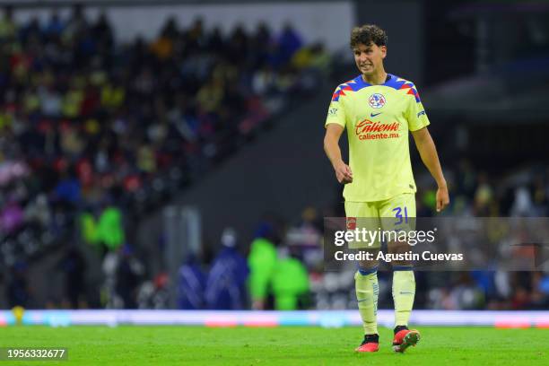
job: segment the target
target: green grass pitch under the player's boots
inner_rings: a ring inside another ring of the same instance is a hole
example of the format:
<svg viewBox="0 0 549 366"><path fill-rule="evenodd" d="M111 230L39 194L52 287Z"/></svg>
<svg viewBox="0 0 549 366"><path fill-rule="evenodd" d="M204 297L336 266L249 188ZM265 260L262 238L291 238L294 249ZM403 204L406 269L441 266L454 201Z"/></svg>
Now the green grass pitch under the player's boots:
<svg viewBox="0 0 549 366"><path fill-rule="evenodd" d="M66 347L65 362L13 365L547 365L549 330L419 327L405 354L380 328L378 353L354 353L360 327L4 327L0 347Z"/></svg>

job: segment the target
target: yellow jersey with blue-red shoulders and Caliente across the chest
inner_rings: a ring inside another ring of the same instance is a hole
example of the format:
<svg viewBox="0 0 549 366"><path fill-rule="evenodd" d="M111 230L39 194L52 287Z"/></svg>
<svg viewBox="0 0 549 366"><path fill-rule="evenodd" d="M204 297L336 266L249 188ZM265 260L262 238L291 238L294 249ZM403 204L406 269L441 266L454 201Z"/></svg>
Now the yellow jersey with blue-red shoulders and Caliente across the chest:
<svg viewBox="0 0 549 366"><path fill-rule="evenodd" d="M371 85L362 75L340 84L332 96L325 126L346 128L353 183L345 201L374 202L416 191L408 131L429 125L414 83L388 74Z"/></svg>

